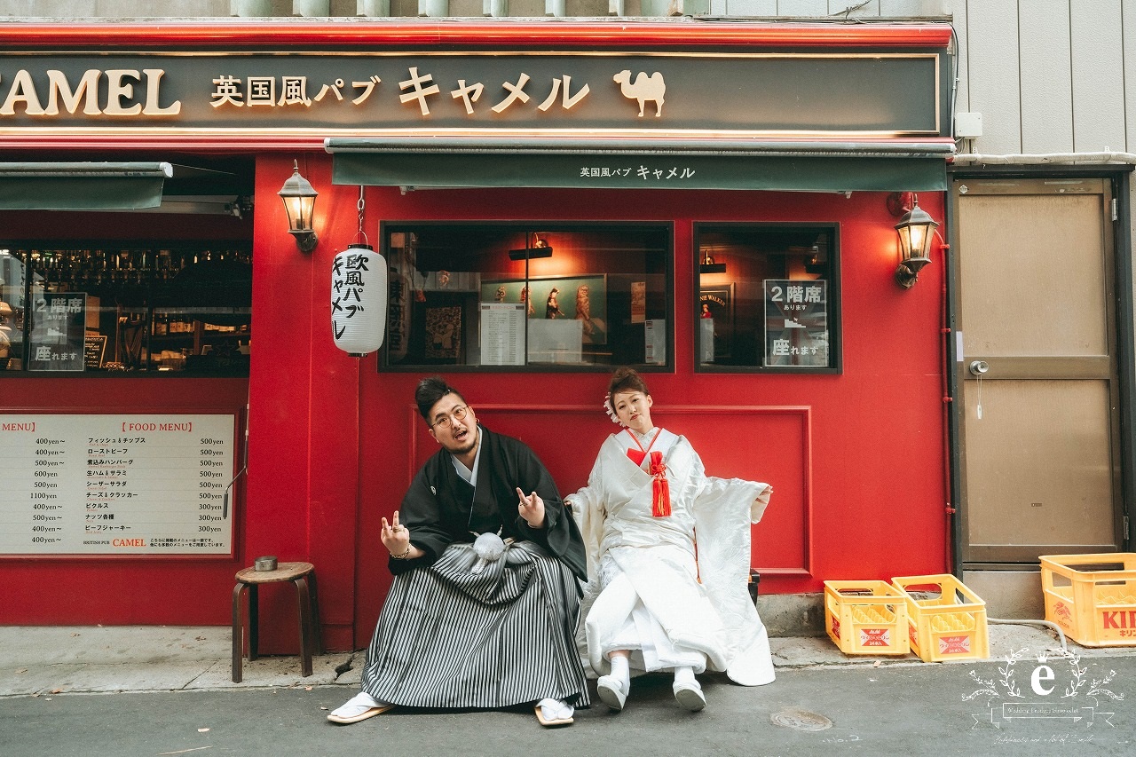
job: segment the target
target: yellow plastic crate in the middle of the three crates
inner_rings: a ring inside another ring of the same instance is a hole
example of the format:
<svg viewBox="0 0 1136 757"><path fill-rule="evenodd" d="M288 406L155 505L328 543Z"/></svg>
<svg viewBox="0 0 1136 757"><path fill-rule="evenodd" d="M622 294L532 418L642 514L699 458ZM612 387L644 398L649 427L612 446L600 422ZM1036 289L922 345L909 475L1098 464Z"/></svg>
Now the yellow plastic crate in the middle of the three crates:
<svg viewBox="0 0 1136 757"><path fill-rule="evenodd" d="M908 641L925 663L986 659L986 602L953 575L892 579L908 605Z"/></svg>

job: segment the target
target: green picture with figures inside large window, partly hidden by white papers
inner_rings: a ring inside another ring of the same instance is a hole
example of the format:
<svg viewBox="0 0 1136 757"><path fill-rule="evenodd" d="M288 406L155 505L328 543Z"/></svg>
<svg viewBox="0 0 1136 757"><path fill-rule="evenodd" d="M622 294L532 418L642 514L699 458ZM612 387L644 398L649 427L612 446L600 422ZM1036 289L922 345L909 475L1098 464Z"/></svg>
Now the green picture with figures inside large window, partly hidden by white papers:
<svg viewBox="0 0 1136 757"><path fill-rule="evenodd" d="M579 321L584 344L608 343L608 277L482 281L482 302L525 302L529 318Z"/></svg>

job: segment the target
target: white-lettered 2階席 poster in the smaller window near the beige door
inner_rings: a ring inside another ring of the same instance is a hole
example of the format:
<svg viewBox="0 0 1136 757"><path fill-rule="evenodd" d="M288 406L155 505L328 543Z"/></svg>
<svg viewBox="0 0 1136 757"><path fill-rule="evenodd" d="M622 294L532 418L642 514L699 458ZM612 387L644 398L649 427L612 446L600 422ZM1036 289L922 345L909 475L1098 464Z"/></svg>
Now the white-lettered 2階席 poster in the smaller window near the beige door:
<svg viewBox="0 0 1136 757"><path fill-rule="evenodd" d="M766 278L767 367L828 367L828 282Z"/></svg>

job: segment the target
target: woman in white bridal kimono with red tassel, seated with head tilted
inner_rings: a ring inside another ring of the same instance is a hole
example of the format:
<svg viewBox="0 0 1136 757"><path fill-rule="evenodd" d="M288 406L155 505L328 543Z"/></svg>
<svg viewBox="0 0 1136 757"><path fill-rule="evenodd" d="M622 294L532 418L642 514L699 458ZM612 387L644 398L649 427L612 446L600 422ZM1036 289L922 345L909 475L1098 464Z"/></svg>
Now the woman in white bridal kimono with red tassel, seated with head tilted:
<svg viewBox="0 0 1136 757"><path fill-rule="evenodd" d="M600 699L623 709L632 669L674 671L675 698L691 710L705 707L698 673L772 682L746 589L750 523L770 486L707 476L685 438L651 423L653 400L630 368L612 375L604 404L626 429L603 442L587 486L565 498L587 549L583 641Z"/></svg>

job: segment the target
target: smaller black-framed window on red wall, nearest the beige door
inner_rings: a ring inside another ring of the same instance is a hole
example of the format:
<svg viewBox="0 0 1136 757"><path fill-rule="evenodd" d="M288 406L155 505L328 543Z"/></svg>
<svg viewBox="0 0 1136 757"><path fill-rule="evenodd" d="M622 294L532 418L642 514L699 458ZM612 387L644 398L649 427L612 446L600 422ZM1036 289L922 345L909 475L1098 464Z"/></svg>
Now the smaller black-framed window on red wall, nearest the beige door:
<svg viewBox="0 0 1136 757"><path fill-rule="evenodd" d="M834 225L696 224L699 369L836 373Z"/></svg>

